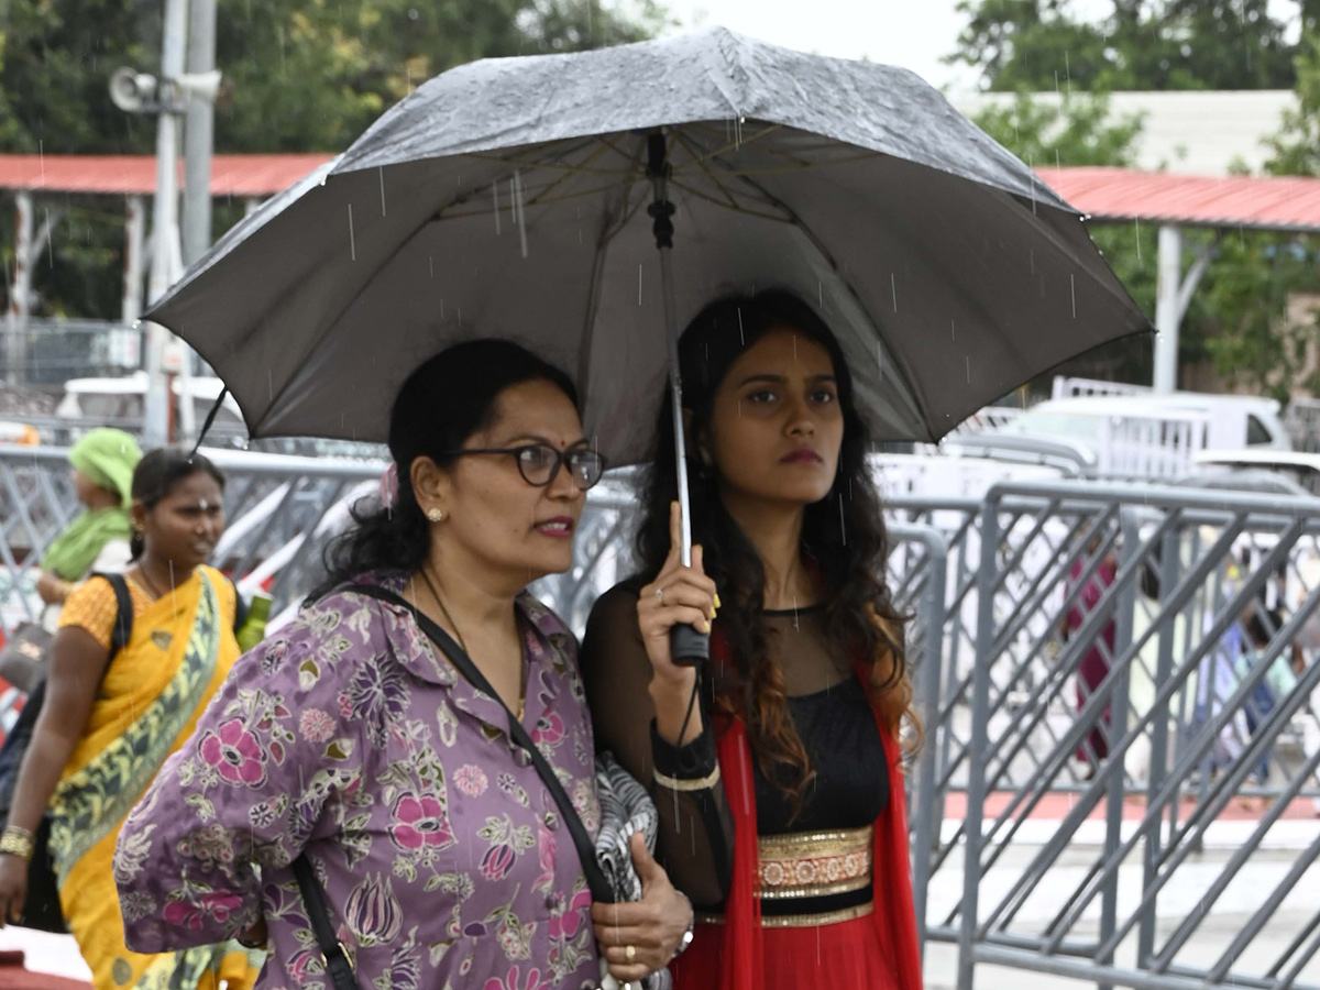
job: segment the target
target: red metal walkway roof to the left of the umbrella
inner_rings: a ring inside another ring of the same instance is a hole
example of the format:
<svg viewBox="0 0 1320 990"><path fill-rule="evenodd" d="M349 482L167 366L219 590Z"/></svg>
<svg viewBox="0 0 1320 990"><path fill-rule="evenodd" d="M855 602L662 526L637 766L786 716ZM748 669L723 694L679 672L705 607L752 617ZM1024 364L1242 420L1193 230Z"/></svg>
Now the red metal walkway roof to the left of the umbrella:
<svg viewBox="0 0 1320 990"><path fill-rule="evenodd" d="M211 195L275 195L330 157L216 154L211 162ZM180 164L181 182L182 177ZM150 195L156 191L156 158L150 154L0 154L0 189Z"/></svg>

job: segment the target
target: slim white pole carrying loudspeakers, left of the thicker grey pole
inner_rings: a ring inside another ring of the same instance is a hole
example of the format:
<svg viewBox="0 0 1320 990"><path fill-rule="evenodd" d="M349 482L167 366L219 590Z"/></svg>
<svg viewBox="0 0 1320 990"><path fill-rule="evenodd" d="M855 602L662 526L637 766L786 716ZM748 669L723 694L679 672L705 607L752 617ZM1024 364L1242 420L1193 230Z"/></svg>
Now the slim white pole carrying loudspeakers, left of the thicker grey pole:
<svg viewBox="0 0 1320 990"><path fill-rule="evenodd" d="M178 114L172 81L183 74L187 34L187 0L165 0L165 30L161 45L161 108L156 116L156 203L152 214L152 276L149 302L156 302L178 277ZM147 404L143 438L148 447L169 441L170 396L165 368L168 331L147 325Z"/></svg>

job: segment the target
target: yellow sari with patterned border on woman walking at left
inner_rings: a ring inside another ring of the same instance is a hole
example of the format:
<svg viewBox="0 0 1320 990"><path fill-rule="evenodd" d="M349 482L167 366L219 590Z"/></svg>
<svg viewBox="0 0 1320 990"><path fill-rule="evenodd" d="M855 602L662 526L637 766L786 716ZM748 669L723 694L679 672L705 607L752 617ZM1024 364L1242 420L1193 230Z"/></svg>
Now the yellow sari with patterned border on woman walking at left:
<svg viewBox="0 0 1320 990"><path fill-rule="evenodd" d="M263 953L238 942L141 954L124 946L112 859L120 826L165 759L191 734L238 659L234 586L211 568L152 602L129 581L133 627L115 655L82 739L50 803L50 853L69 931L98 990L164 990L222 982L251 987ZM115 620L110 583L92 579L65 606L59 624L78 626L110 648Z"/></svg>

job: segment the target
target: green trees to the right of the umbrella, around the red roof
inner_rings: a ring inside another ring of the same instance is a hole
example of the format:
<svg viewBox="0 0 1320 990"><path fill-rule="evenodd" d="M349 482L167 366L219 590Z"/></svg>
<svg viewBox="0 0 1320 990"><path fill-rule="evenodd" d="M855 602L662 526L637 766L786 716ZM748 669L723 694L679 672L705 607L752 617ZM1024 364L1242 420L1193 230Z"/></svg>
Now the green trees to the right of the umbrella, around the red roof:
<svg viewBox="0 0 1320 990"><path fill-rule="evenodd" d="M1320 3L1298 8L1315 26ZM1113 119L1104 95L1110 90L1295 84L1299 107L1272 140L1267 170L1320 174L1320 44L1304 30L1290 45L1265 0L1113 0L1096 24L1081 21L1068 0L965 0L961 9L969 21L952 61L979 69L990 90L1018 91L1011 107L990 108L978 123L1024 161L1131 166L1140 121ZM1056 71L1061 110L1030 95L1055 91ZM1154 314L1156 231L1134 223L1090 232L1133 298ZM1180 363L1210 362L1230 385L1287 399L1290 372L1316 333L1284 318L1292 293L1320 289L1315 240L1187 230L1184 249L1188 257L1208 251L1212 263L1183 321ZM1148 381L1151 348L1107 347L1089 355L1089 368Z"/></svg>

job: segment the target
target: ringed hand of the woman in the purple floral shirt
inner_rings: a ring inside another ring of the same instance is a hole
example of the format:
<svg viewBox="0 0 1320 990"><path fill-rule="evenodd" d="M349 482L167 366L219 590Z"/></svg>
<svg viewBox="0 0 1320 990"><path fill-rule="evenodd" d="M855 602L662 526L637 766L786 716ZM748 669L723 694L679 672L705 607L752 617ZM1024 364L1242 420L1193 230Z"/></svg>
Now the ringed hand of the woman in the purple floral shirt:
<svg viewBox="0 0 1320 990"><path fill-rule="evenodd" d="M692 925L692 904L669 883L640 832L632 836L632 865L642 878L642 900L591 904L601 954L610 964L610 975L620 983L669 965Z"/></svg>

